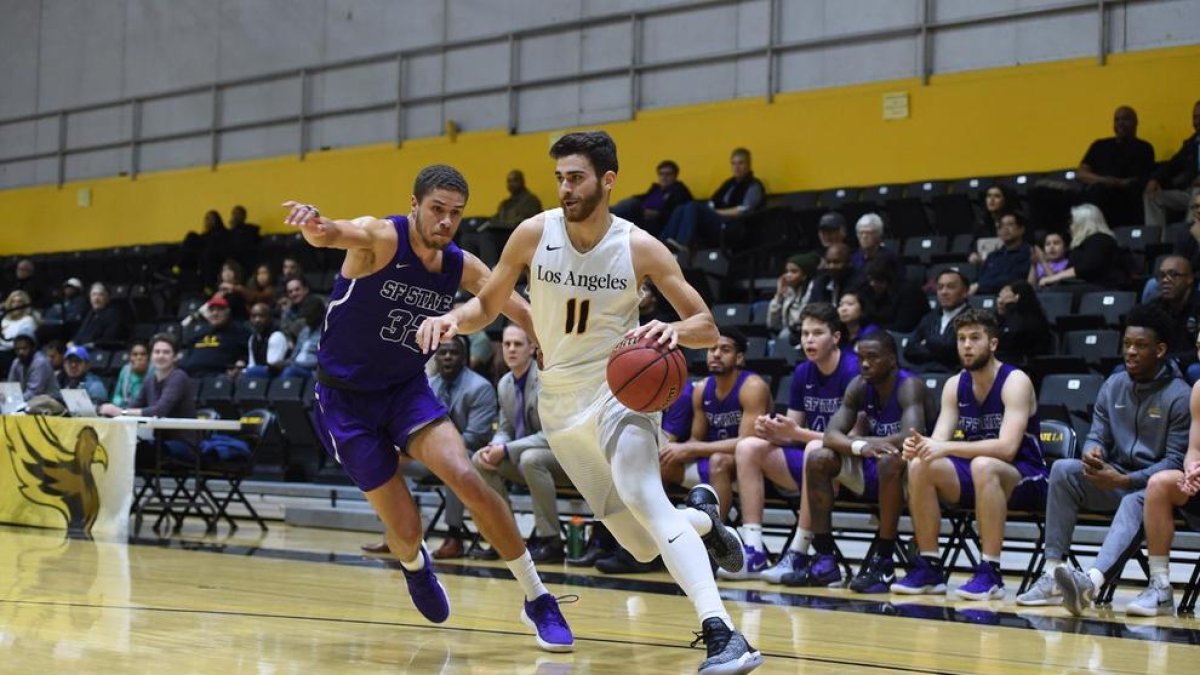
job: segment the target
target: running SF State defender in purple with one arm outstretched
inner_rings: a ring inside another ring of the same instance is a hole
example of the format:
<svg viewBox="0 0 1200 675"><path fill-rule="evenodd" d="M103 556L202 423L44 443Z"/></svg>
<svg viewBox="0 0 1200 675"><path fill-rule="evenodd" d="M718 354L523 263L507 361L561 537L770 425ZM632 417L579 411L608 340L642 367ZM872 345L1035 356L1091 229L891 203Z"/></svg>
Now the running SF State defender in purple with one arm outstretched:
<svg viewBox="0 0 1200 675"><path fill-rule="evenodd" d="M290 209L284 222L299 227L310 244L346 250L318 352L314 422L326 450L383 520L421 615L445 621L450 599L421 540L413 496L396 476L397 448L470 508L524 591L521 616L534 627L539 646L570 651L575 639L558 602L538 578L504 500L470 465L446 406L425 377L432 350L416 340L418 325L449 310L460 287L479 293L487 281L487 267L454 244L467 192L457 169L436 165L416 175L407 216L335 221L311 204L283 204ZM520 295L498 298L496 306L529 324L529 307Z"/></svg>

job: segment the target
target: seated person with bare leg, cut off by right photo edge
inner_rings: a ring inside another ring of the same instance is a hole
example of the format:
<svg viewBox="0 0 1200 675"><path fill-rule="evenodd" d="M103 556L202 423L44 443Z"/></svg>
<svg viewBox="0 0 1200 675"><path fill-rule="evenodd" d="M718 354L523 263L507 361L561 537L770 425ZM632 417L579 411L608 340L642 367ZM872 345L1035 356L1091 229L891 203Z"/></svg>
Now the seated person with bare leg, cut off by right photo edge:
<svg viewBox="0 0 1200 675"><path fill-rule="evenodd" d="M1192 388L1189 408L1192 419L1200 419L1200 384ZM1193 424L1188 434L1188 453L1183 456L1183 470L1159 471L1146 485L1142 526L1146 528L1150 579L1146 590L1126 605L1126 614L1170 616L1175 613L1175 590L1171 589L1170 577L1175 516L1180 513L1192 530L1200 530L1198 494L1200 494L1200 429Z"/></svg>

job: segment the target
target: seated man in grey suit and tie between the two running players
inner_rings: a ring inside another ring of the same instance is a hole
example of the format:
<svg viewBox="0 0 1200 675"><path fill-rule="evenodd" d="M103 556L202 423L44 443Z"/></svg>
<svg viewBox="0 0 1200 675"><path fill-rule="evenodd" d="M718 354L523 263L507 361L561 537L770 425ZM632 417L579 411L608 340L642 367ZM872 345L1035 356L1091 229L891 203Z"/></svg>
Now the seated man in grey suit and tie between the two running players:
<svg viewBox="0 0 1200 675"><path fill-rule="evenodd" d="M534 363L535 347L520 325L504 329L500 342L504 363L509 372L500 378L500 422L491 443L472 458L484 480L509 498L504 480L529 488L533 498L534 538L529 543L529 555L534 562L562 562L563 539L558 528L558 502L556 485L569 485L570 478L550 450L550 442L541 431L538 417L538 364ZM472 557L494 560L496 551L472 550Z"/></svg>

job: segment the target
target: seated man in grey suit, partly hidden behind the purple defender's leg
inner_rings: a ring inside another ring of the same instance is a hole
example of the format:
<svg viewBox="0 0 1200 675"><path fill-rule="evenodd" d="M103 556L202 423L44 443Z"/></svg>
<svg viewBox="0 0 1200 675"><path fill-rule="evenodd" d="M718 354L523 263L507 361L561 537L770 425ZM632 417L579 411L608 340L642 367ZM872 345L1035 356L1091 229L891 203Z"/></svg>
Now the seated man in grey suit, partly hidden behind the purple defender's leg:
<svg viewBox="0 0 1200 675"><path fill-rule="evenodd" d="M450 411L450 419L462 434L467 452L474 454L492 438L497 401L496 388L492 387L492 383L466 368L467 350L467 339L463 335L455 336L438 346L433 357L438 362L438 372L430 378L430 386ZM401 458L401 467L409 476L426 477L430 474L426 467L407 460L407 458ZM448 490L445 522L450 532L442 545L433 551L434 558L446 560L463 556L462 538L467 534L463 521L464 510L462 500Z"/></svg>

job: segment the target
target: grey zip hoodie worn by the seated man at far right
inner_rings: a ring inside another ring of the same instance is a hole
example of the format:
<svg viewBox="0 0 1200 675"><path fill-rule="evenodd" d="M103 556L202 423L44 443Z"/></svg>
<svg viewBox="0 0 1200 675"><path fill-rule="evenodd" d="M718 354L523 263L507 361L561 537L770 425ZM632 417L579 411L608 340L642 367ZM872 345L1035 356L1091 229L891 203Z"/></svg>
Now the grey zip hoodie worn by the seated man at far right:
<svg viewBox="0 0 1200 675"><path fill-rule="evenodd" d="M1085 452L1099 447L1106 462L1129 474L1132 490L1144 489L1159 471L1182 468L1192 424L1190 393L1170 362L1150 382L1134 382L1124 370L1117 372L1100 387Z"/></svg>

